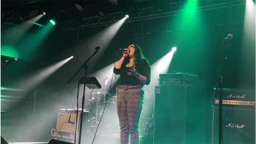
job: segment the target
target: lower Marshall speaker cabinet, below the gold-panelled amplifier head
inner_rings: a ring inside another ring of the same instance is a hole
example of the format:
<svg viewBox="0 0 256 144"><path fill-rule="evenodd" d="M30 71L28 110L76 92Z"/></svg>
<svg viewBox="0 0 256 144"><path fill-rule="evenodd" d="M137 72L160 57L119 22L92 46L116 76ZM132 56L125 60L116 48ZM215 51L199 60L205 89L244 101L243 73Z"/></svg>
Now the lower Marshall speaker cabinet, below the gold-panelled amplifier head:
<svg viewBox="0 0 256 144"><path fill-rule="evenodd" d="M223 105L223 143L255 144L255 106ZM219 108L213 107L211 143L219 143Z"/></svg>

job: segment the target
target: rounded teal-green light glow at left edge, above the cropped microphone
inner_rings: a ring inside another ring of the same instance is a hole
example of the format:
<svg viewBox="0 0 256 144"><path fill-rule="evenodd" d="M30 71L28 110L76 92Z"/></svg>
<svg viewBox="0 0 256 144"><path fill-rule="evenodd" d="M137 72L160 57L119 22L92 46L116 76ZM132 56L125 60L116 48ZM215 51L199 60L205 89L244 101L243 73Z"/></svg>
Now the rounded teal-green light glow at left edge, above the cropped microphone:
<svg viewBox="0 0 256 144"><path fill-rule="evenodd" d="M1 55L19 58L19 53L17 49L11 45L1 45Z"/></svg>

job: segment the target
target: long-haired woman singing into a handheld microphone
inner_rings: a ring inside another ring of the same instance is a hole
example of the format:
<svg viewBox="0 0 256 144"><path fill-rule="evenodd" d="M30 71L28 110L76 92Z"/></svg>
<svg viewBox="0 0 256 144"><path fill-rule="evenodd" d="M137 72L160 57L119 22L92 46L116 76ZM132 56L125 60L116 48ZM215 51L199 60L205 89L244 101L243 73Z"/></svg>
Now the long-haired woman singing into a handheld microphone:
<svg viewBox="0 0 256 144"><path fill-rule="evenodd" d="M143 85L149 85L151 69L141 48L135 44L124 49L114 68L121 81L117 87L117 115L121 144L139 143L139 117L143 106Z"/></svg>

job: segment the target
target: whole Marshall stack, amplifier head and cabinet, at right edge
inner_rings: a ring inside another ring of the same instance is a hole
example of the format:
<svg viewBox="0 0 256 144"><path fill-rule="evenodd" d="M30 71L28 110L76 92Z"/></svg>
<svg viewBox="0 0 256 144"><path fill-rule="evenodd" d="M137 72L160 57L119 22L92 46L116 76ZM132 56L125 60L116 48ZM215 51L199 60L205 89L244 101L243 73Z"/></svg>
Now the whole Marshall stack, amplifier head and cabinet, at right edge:
<svg viewBox="0 0 256 144"><path fill-rule="evenodd" d="M219 89L215 89L211 143L219 139ZM255 143L255 91L223 89L223 143Z"/></svg>

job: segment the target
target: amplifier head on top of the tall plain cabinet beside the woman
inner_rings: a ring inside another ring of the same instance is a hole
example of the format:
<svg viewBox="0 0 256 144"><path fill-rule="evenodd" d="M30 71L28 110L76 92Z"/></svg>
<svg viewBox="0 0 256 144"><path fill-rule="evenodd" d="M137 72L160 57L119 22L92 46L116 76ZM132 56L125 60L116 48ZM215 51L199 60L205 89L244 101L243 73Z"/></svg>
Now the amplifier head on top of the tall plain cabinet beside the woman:
<svg viewBox="0 0 256 144"><path fill-rule="evenodd" d="M189 73L159 74L159 85L191 85L197 81L197 75Z"/></svg>

